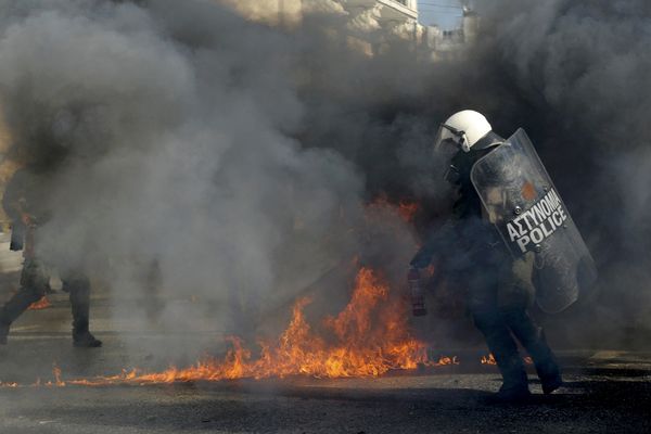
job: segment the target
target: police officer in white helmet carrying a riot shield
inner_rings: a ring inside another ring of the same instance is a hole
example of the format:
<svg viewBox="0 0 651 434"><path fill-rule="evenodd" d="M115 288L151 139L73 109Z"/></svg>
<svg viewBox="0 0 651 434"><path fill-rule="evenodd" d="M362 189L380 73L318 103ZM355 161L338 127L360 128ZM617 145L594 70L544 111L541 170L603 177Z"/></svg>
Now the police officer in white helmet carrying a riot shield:
<svg viewBox="0 0 651 434"><path fill-rule="evenodd" d="M498 399L531 395L513 336L532 356L542 391L552 393L562 384L559 366L542 329L536 326L527 308L536 296L544 309L549 307L548 311L560 311L576 301L577 254L570 251L574 246L565 240L575 228L567 227L571 220L562 202L552 200L556 192L537 156L520 153L510 142L506 145L480 113L463 111L450 117L442 126L436 150L438 155L447 152L451 157L446 180L457 189L458 199L452 217L412 259L410 284L413 285L418 270L436 257L444 270L457 276L468 288L474 323L484 334L503 378ZM542 202L548 214L531 215L531 209L540 207ZM547 238L540 239L541 234ZM578 232L576 235L578 252L585 244ZM591 264L587 250L579 253ZM573 280L562 280L567 277ZM541 281L552 292L538 288ZM417 303L422 299L414 302L416 315ZM423 306L418 307L423 314Z"/></svg>

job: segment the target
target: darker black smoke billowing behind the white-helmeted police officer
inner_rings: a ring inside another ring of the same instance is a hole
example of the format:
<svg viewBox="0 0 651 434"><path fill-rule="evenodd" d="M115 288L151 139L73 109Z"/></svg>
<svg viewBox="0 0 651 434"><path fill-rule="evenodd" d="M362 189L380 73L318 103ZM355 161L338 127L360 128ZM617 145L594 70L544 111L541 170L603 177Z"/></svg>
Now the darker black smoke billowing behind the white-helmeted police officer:
<svg viewBox="0 0 651 434"><path fill-rule="evenodd" d="M427 154L436 125L472 107L502 136L524 127L601 273L595 297L556 321L565 328L559 334L603 345L604 336L617 344L634 337L631 329L648 331L651 5L505 0L476 7L477 43L456 59L424 64L394 47L372 66L328 63L321 74L334 91L311 101L305 142L334 143L363 169L367 192L421 201L425 227L446 205Z"/></svg>

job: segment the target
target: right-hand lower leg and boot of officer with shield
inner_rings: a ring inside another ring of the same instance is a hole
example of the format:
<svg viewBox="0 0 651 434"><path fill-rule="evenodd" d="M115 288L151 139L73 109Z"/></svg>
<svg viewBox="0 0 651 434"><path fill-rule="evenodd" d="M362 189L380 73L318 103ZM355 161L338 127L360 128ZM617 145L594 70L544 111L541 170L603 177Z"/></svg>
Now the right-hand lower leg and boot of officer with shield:
<svg viewBox="0 0 651 434"><path fill-rule="evenodd" d="M545 332L537 327L526 310L509 311L505 315L515 337L526 348L542 385L542 393L549 395L563 385L561 370L551 348L547 344Z"/></svg>

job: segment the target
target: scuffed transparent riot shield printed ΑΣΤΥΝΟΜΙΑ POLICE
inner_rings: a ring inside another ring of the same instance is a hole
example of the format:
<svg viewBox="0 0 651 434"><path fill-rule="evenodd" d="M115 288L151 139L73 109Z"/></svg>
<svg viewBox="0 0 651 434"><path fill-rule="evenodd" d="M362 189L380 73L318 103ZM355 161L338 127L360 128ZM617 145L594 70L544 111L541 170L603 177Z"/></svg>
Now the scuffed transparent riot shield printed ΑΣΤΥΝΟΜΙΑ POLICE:
<svg viewBox="0 0 651 434"><path fill-rule="evenodd" d="M590 291L592 257L523 129L477 161L471 180L511 254L535 254L542 310L564 310Z"/></svg>

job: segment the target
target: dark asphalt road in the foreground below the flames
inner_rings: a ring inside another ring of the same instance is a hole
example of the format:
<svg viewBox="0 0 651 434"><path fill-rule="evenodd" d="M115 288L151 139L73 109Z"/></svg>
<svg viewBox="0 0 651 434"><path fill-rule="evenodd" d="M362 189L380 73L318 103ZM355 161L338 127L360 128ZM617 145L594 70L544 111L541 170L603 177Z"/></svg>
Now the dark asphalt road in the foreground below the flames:
<svg viewBox="0 0 651 434"><path fill-rule="evenodd" d="M558 395L487 404L495 373L0 391L7 433L648 433L648 370L591 368Z"/></svg>

